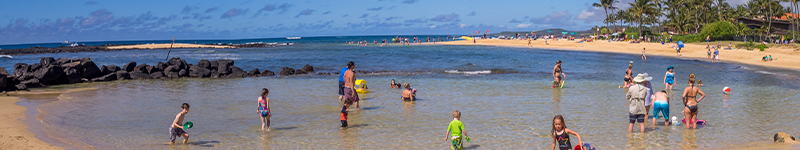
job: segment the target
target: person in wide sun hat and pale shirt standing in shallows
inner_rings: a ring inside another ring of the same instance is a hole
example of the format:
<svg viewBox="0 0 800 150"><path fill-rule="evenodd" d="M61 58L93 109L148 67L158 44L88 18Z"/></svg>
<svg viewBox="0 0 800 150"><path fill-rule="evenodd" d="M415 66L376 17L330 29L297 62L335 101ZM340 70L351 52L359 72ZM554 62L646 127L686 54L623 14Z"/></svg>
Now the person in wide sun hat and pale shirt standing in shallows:
<svg viewBox="0 0 800 150"><path fill-rule="evenodd" d="M628 124L628 132L633 132L633 124L637 122L641 128L641 132L644 132L644 117L647 114L644 101L647 97L647 87L642 85L642 83L645 81L643 74L636 75L636 77L633 78L635 84L629 87L628 93L625 94L625 98L628 100L628 103L630 103L630 105L628 105L630 121Z"/></svg>

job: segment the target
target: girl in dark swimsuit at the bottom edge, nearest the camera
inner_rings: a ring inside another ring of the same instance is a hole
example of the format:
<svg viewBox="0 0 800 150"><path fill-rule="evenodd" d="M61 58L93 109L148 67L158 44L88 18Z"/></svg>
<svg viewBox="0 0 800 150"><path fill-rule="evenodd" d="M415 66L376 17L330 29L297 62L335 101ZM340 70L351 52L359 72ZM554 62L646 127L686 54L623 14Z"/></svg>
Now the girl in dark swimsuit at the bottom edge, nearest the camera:
<svg viewBox="0 0 800 150"><path fill-rule="evenodd" d="M564 117L561 115L553 117L553 129L551 132L553 136L553 148L551 149L556 149L556 145L558 145L559 150L572 150L572 143L569 141L570 134L578 137L578 145L583 145L581 135L567 128Z"/></svg>

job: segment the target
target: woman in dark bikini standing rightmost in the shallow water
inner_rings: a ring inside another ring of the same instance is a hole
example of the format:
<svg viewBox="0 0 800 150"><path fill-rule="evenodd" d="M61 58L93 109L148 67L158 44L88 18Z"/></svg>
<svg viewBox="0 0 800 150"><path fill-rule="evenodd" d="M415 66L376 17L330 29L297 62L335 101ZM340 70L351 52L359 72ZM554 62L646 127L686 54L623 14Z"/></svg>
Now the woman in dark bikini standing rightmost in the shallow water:
<svg viewBox="0 0 800 150"><path fill-rule="evenodd" d="M689 74L689 87L683 90L683 113L686 116L686 128L697 129L697 103L703 100L706 94L694 86L694 81L695 75ZM700 98L697 98L697 95L701 95Z"/></svg>

